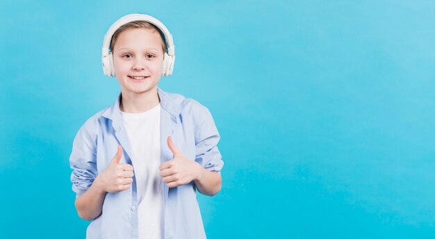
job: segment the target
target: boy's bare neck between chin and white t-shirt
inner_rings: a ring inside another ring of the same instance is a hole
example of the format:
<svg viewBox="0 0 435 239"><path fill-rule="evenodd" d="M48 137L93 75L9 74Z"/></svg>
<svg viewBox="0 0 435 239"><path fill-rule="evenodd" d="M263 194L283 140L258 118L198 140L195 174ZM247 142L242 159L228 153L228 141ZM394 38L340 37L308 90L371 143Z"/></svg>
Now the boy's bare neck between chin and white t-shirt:
<svg viewBox="0 0 435 239"><path fill-rule="evenodd" d="M120 110L125 113L142 113L156 107L160 103L157 88L140 94L121 93Z"/></svg>

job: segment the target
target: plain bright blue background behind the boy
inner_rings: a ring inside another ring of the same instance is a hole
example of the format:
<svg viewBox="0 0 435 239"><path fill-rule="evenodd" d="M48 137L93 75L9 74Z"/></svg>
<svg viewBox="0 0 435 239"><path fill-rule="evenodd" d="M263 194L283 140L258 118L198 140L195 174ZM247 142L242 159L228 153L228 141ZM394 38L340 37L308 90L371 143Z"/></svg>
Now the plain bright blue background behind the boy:
<svg viewBox="0 0 435 239"><path fill-rule="evenodd" d="M84 238L72 140L115 101L116 19L174 35L160 86L217 124L208 238L435 236L435 1L1 1L1 238Z"/></svg>

